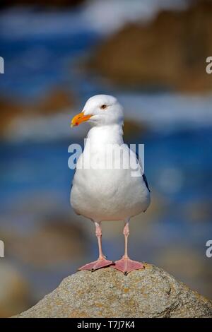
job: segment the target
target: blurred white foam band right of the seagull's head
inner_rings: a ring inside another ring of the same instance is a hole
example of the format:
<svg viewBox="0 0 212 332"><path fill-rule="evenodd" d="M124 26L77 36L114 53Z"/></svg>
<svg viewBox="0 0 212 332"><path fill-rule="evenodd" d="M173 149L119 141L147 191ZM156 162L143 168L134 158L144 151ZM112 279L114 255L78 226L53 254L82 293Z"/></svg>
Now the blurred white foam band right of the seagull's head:
<svg viewBox="0 0 212 332"><path fill-rule="evenodd" d="M212 126L212 95L155 93L117 97L124 105L126 117L146 122L152 129L175 131Z"/></svg>

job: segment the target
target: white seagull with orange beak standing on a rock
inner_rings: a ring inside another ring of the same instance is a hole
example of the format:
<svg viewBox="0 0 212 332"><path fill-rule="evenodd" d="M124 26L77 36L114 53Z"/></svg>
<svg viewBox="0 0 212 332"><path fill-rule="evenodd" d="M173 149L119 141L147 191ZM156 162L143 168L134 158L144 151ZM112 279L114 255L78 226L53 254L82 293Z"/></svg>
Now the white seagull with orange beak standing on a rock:
<svg viewBox="0 0 212 332"><path fill-rule="evenodd" d="M112 266L127 274L144 268L142 263L129 258L128 237L131 217L145 212L151 203L148 182L138 155L124 144L123 108L115 97L90 97L83 111L73 117L71 126L78 126L83 122L89 122L91 128L83 153L76 162L70 201L73 211L93 221L99 257L79 270L95 271ZM110 149L113 147L118 153L114 153L111 158ZM130 160L128 167L123 165L127 156ZM108 167L106 164L110 159L112 162ZM138 170L134 176L133 170L136 167ZM124 256L119 261L107 260L102 252L101 223L110 220L124 221Z"/></svg>

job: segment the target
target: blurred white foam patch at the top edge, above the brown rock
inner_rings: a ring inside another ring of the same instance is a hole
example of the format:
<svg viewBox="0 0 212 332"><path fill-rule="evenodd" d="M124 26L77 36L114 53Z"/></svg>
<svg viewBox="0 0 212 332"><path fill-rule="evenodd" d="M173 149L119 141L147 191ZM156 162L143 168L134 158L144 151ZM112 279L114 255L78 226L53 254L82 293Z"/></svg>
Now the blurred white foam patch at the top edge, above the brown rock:
<svg viewBox="0 0 212 332"><path fill-rule="evenodd" d="M88 1L84 10L86 21L94 30L109 34L126 23L147 22L162 9L187 8L186 0L98 0Z"/></svg>

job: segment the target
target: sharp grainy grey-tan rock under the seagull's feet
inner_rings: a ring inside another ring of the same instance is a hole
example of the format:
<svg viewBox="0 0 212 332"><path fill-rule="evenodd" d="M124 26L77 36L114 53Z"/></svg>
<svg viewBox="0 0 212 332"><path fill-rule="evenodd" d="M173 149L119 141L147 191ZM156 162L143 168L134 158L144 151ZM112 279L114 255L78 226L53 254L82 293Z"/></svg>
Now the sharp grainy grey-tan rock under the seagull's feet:
<svg viewBox="0 0 212 332"><path fill-rule="evenodd" d="M212 302L145 263L128 275L111 267L70 275L16 317L212 317Z"/></svg>

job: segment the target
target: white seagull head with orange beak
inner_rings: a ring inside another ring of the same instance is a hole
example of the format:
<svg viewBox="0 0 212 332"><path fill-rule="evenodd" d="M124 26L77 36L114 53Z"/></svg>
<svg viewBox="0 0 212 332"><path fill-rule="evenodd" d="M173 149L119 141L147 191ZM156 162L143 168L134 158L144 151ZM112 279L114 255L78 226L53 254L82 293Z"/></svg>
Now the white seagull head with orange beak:
<svg viewBox="0 0 212 332"><path fill-rule="evenodd" d="M83 111L76 114L71 121L71 126L78 126L88 121L93 126L107 126L123 124L123 108L112 95L94 95L90 97Z"/></svg>

